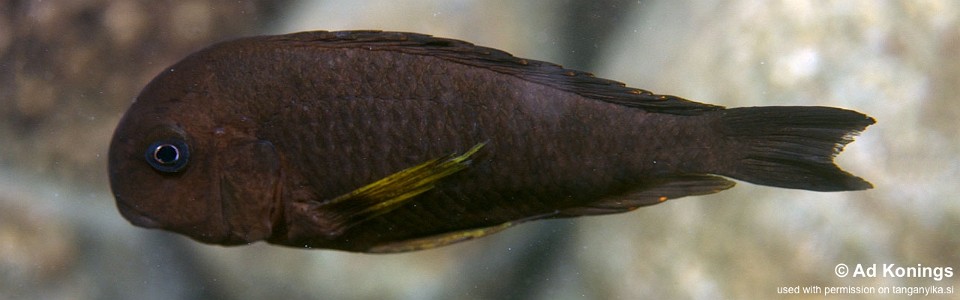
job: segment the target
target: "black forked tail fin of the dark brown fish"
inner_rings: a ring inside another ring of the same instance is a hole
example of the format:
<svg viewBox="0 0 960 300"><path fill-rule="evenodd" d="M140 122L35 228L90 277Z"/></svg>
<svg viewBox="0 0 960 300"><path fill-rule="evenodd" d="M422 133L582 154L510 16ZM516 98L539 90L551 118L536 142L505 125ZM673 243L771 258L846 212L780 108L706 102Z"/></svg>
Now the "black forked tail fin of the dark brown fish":
<svg viewBox="0 0 960 300"><path fill-rule="evenodd" d="M833 107L767 106L718 111L719 130L732 144L733 161L718 173L736 179L813 191L873 186L837 167L833 158L873 118Z"/></svg>

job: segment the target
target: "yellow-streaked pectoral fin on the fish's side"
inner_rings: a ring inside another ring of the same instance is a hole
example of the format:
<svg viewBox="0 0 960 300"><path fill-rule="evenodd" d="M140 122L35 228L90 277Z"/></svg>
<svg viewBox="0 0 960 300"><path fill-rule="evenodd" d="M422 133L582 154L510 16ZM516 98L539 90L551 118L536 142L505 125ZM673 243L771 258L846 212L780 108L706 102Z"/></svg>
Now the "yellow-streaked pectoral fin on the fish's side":
<svg viewBox="0 0 960 300"><path fill-rule="evenodd" d="M344 194L322 207L334 214L332 235L343 233L346 229L363 221L388 213L413 197L432 189L437 181L466 169L470 157L483 148L485 143L477 144L461 155L448 155L401 170L373 183Z"/></svg>

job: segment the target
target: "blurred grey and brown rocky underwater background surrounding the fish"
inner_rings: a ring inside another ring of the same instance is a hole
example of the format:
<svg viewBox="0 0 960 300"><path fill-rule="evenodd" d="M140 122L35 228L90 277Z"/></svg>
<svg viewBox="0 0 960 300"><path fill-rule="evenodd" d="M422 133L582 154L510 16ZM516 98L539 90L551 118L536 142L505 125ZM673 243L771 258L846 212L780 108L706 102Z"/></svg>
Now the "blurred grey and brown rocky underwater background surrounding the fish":
<svg viewBox="0 0 960 300"><path fill-rule="evenodd" d="M107 146L163 68L230 38L350 29L461 39L728 107L857 110L878 123L837 161L875 188L738 182L391 255L210 246L119 215ZM0 1L0 299L698 299L777 298L792 286L960 287L958 58L956 1ZM954 275L841 277L839 264Z"/></svg>

